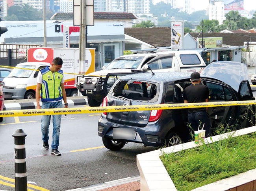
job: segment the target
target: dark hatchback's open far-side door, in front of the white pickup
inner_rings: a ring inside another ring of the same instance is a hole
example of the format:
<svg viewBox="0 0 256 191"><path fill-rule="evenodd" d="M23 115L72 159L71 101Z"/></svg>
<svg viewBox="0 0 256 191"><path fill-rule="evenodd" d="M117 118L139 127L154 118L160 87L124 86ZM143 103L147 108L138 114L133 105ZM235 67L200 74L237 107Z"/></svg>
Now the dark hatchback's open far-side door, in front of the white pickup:
<svg viewBox="0 0 256 191"><path fill-rule="evenodd" d="M115 84L115 82L120 78L121 76L126 76L130 74L136 74L136 73L145 73L147 71L142 70L134 70L132 69L131 72L117 72L117 73L109 73L106 75L104 84L103 84L103 91L107 95L111 87Z"/></svg>

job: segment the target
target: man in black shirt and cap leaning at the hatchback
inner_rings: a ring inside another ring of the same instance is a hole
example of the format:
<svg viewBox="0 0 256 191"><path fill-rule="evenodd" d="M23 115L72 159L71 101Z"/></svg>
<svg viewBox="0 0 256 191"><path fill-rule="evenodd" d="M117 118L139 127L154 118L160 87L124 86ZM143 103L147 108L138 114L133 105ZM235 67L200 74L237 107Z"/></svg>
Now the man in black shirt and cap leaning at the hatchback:
<svg viewBox="0 0 256 191"><path fill-rule="evenodd" d="M183 92L184 103L199 103L209 101L209 90L206 85L201 84L201 76L198 72L193 72L190 76L191 85L187 86ZM198 130L201 123L201 128L204 126L205 136L210 136L211 125L207 115L208 107L189 108L188 122L193 131ZM203 125L204 124L204 125ZM200 128L200 129L201 129ZM191 131L192 135L194 132Z"/></svg>

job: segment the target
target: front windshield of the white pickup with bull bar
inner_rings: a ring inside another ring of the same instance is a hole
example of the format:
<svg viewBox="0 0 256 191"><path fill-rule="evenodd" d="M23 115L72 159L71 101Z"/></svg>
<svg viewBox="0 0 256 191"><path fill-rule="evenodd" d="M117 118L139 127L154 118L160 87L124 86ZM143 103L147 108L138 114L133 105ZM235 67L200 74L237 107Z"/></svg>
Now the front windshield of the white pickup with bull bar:
<svg viewBox="0 0 256 191"><path fill-rule="evenodd" d="M137 69L143 56L126 56L113 60L105 69Z"/></svg>

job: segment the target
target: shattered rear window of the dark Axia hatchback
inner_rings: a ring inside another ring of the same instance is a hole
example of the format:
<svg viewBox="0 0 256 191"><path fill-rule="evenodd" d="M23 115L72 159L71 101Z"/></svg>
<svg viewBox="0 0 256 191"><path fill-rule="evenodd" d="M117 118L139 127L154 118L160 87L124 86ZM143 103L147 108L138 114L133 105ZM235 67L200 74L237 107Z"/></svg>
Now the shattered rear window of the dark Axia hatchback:
<svg viewBox="0 0 256 191"><path fill-rule="evenodd" d="M113 89L113 96L130 100L155 101L158 99L160 84L136 80L120 81Z"/></svg>

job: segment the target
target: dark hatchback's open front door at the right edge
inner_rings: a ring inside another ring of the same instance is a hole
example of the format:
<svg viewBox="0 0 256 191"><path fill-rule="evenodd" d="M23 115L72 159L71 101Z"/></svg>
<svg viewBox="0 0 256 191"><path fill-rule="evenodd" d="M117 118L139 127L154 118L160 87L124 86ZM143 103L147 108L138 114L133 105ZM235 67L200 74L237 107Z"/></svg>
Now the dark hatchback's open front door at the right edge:
<svg viewBox="0 0 256 191"><path fill-rule="evenodd" d="M243 80L239 85L238 93L240 100L255 100L252 95L252 89L247 80ZM250 127L255 125L255 105L239 106L239 120L238 124L240 128Z"/></svg>

